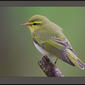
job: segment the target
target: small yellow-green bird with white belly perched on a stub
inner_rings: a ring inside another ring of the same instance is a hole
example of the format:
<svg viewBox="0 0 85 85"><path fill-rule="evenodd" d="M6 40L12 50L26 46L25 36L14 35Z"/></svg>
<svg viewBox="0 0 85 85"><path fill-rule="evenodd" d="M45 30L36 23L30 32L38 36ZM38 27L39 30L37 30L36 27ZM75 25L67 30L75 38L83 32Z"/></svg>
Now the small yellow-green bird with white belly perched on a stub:
<svg viewBox="0 0 85 85"><path fill-rule="evenodd" d="M71 66L85 69L85 63L79 59L63 29L47 17L34 15L21 25L30 30L33 43L43 56L56 57L55 64L60 59Z"/></svg>

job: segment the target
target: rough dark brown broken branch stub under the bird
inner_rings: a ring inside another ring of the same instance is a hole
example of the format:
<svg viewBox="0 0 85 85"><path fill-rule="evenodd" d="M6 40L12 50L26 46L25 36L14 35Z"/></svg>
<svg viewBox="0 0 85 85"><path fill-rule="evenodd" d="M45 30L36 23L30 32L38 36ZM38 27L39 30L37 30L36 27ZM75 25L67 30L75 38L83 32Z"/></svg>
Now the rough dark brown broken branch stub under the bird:
<svg viewBox="0 0 85 85"><path fill-rule="evenodd" d="M43 56L38 64L48 77L64 77L56 65L51 62L47 56Z"/></svg>

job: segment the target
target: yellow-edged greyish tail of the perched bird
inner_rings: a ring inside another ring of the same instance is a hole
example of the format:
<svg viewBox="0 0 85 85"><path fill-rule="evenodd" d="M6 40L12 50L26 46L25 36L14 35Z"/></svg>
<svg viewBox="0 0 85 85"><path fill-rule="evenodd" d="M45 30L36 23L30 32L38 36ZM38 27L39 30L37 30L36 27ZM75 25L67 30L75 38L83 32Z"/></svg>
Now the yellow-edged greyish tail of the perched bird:
<svg viewBox="0 0 85 85"><path fill-rule="evenodd" d="M85 70L85 63L83 63L70 49L66 49L67 57L80 69Z"/></svg>

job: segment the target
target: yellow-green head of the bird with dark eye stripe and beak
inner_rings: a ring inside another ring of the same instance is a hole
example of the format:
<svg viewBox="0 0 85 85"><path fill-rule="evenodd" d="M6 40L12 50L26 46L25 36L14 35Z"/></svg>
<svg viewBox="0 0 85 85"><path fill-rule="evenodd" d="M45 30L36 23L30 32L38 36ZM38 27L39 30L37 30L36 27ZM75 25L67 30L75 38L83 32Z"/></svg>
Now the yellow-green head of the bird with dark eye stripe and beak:
<svg viewBox="0 0 85 85"><path fill-rule="evenodd" d="M32 16L26 23L21 24L30 29L31 32L34 32L37 29L42 29L42 26L48 23L49 20L41 15Z"/></svg>

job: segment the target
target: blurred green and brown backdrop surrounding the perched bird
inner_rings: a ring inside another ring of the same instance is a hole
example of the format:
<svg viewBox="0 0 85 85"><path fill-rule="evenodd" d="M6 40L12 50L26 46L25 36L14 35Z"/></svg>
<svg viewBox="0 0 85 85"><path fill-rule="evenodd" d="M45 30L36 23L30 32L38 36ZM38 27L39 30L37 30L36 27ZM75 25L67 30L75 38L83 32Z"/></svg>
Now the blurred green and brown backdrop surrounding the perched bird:
<svg viewBox="0 0 85 85"><path fill-rule="evenodd" d="M20 26L36 14L62 27L85 62L85 7L0 7L0 76L45 76L37 64L42 55L33 45L30 31ZM85 70L60 60L57 66L66 77L85 76Z"/></svg>

